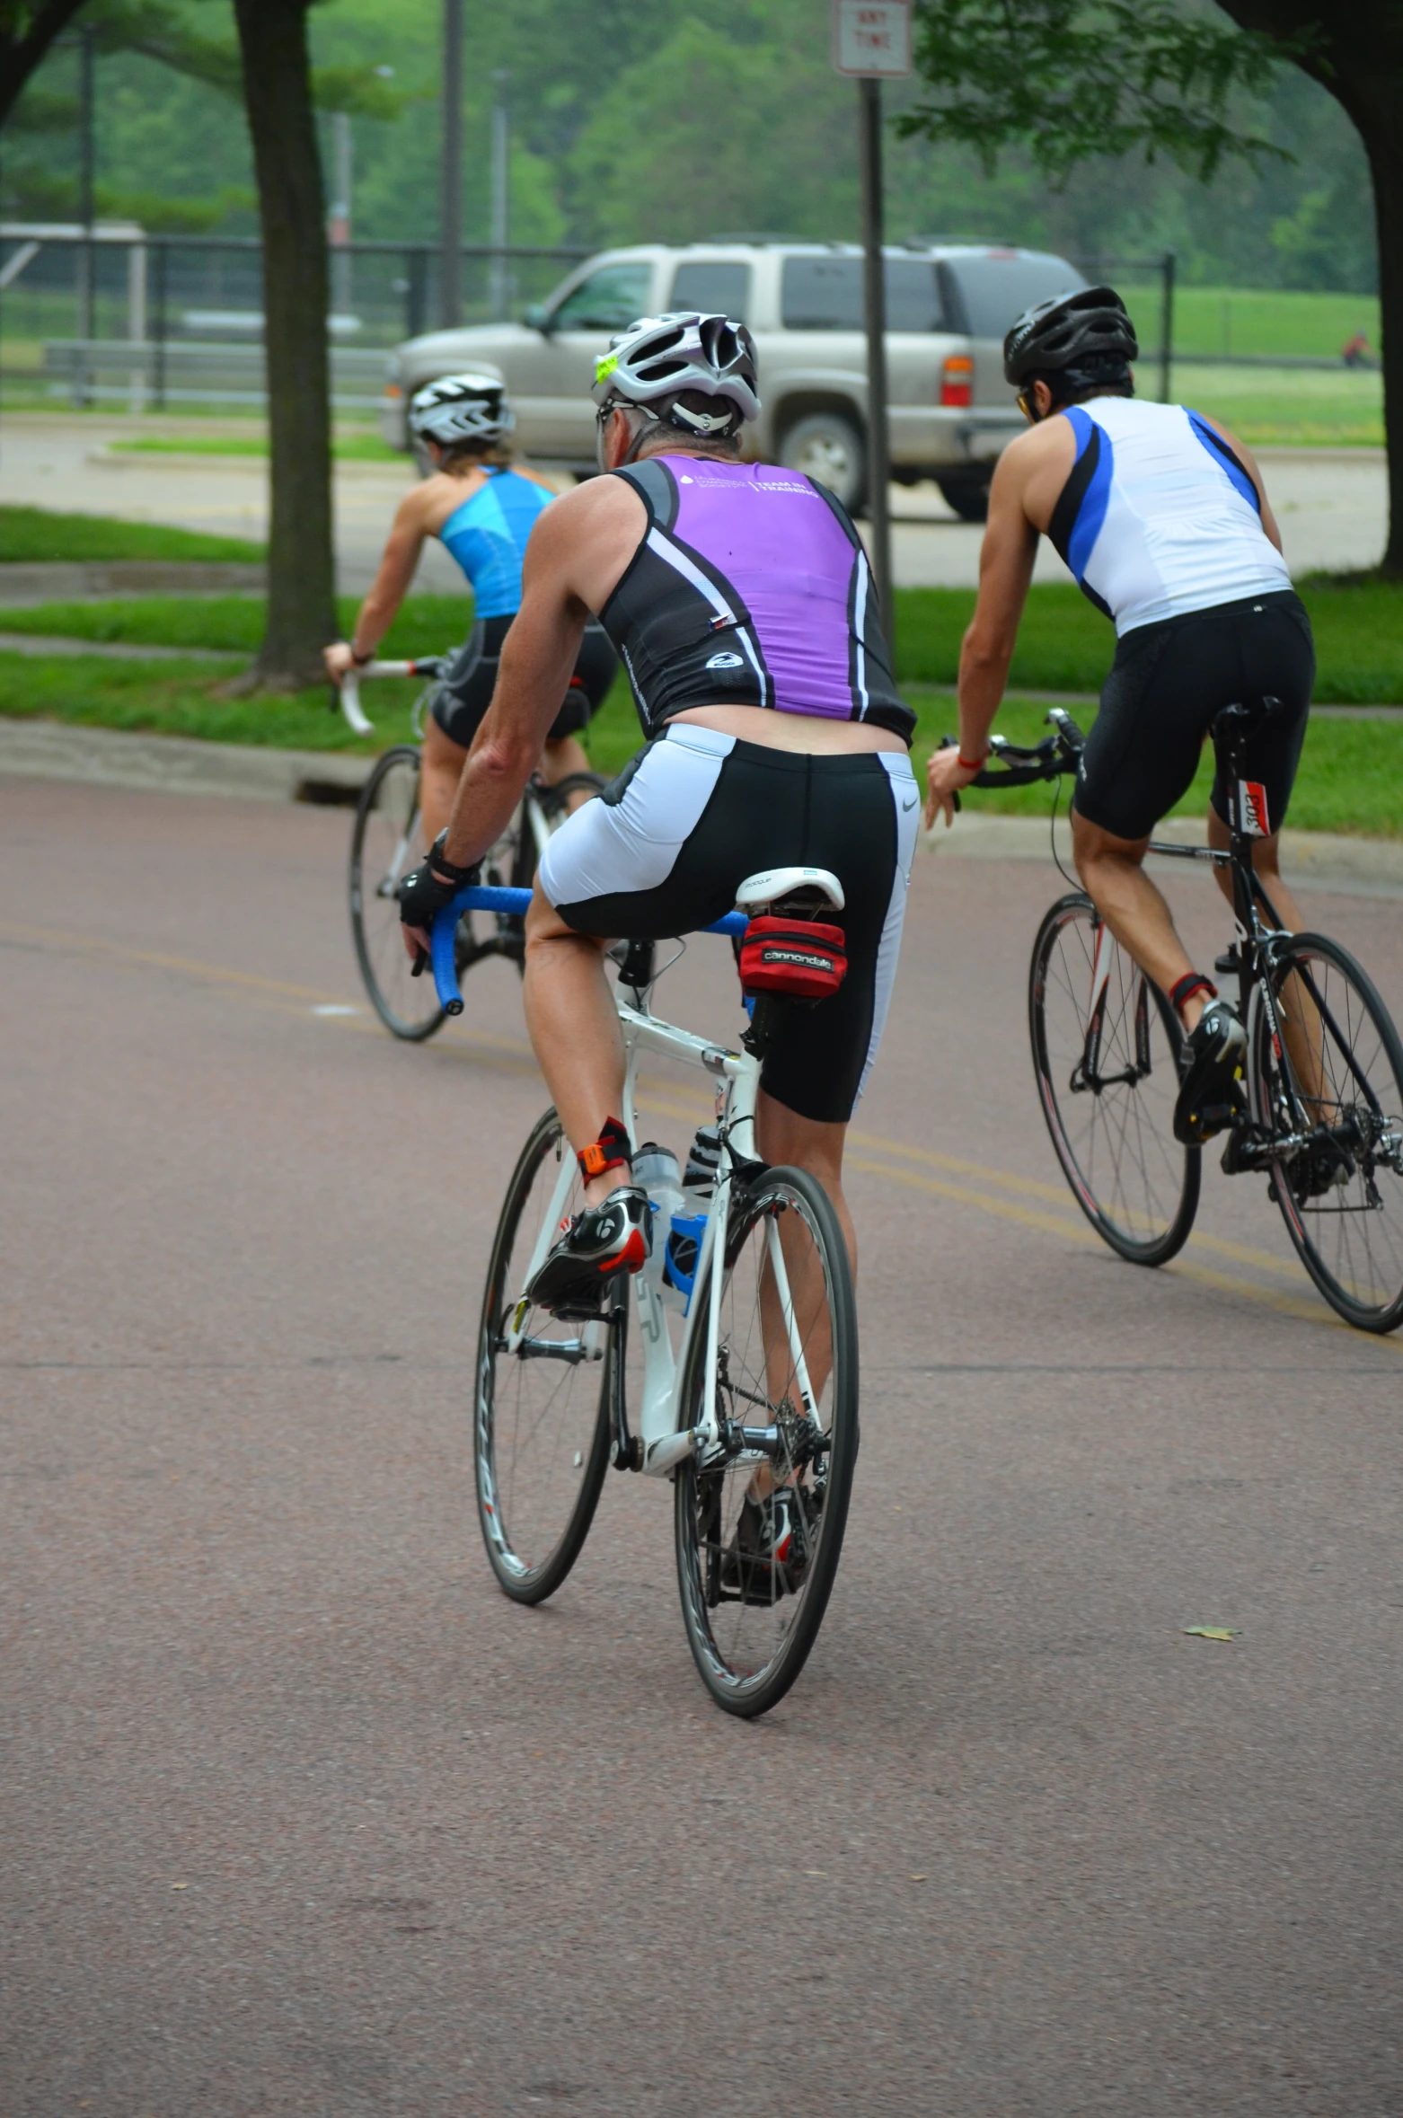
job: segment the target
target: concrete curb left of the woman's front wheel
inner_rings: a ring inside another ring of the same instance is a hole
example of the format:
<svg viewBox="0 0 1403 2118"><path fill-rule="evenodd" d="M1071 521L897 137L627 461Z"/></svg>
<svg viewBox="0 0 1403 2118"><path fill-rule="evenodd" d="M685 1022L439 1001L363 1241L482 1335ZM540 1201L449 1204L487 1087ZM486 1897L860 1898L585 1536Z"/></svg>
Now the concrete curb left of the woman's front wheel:
<svg viewBox="0 0 1403 2118"><path fill-rule="evenodd" d="M375 758L337 750L273 750L76 729L57 720L0 720L0 775L17 779L354 807L373 767Z"/></svg>

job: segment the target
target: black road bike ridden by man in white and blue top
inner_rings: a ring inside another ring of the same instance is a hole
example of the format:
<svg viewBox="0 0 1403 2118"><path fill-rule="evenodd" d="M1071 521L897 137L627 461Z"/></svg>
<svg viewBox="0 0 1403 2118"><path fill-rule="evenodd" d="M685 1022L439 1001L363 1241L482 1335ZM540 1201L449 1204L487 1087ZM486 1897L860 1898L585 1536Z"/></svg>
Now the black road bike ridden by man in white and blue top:
<svg viewBox="0 0 1403 2118"><path fill-rule="evenodd" d="M1265 1175L1331 1309L1358 1330L1390 1332L1403 1322L1403 1044L1367 972L1327 934L1284 932L1253 866L1261 811L1244 743L1274 707L1229 705L1212 722L1231 792L1227 849L1151 841L1151 854L1231 873L1238 938L1216 970L1238 981L1246 1063L1223 1169ZM1047 720L1053 735L1032 750L994 737L975 786L1075 775L1085 737L1058 707ZM1072 1197L1121 1258L1164 1264L1189 1239L1202 1178L1204 1150L1180 1146L1172 1125L1185 1038L1083 890L1043 917L1028 1027Z"/></svg>

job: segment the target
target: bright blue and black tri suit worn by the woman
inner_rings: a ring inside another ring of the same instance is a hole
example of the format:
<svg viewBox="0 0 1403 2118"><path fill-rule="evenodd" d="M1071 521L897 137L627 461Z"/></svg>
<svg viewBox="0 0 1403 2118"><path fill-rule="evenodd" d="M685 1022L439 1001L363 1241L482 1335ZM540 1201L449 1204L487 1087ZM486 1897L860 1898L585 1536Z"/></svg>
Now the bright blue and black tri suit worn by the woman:
<svg viewBox="0 0 1403 2118"><path fill-rule="evenodd" d="M532 523L551 498L534 479L487 466L487 483L454 508L439 530L439 542L468 576L477 604L473 633L449 663L432 703L432 716L447 739L464 750L492 705L502 640L521 608L521 555ZM608 633L591 623L581 642L570 690L551 726L551 741L579 735L587 726L617 667Z"/></svg>

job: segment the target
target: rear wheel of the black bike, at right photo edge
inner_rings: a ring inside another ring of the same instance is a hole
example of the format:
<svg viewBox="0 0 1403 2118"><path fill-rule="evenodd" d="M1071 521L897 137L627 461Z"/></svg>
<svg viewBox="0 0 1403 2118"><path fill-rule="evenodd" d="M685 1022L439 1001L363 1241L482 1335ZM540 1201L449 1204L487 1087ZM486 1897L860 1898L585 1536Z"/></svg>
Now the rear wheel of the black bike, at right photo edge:
<svg viewBox="0 0 1403 2118"><path fill-rule="evenodd" d="M1390 1332L1403 1324L1403 1040L1369 974L1329 934L1295 934L1274 955L1272 991L1282 1025L1293 1015L1295 995L1284 998L1293 976L1316 1008L1322 1095L1310 1095L1301 1082L1289 1027L1280 1044L1265 1034L1265 1004L1253 995L1253 1114L1269 1150L1282 1133L1299 1137L1314 1103L1318 1144L1272 1154L1272 1197L1335 1315L1356 1330ZM1333 1110L1329 1123L1320 1123L1322 1101ZM1348 1178L1320 1182L1322 1150L1342 1171L1335 1148L1348 1161Z"/></svg>

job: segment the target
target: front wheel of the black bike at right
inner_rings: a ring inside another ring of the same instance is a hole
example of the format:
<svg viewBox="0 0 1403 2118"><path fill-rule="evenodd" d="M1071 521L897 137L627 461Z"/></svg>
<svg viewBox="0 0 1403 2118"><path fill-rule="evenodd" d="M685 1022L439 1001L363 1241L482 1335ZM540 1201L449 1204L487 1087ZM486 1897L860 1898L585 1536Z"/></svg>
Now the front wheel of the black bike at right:
<svg viewBox="0 0 1403 2118"><path fill-rule="evenodd" d="M1159 987L1113 943L1091 1021L1100 938L1079 890L1038 928L1028 974L1038 1101L1096 1233L1132 1264L1164 1264L1189 1239L1202 1178L1200 1150L1174 1139L1183 1031Z"/></svg>

